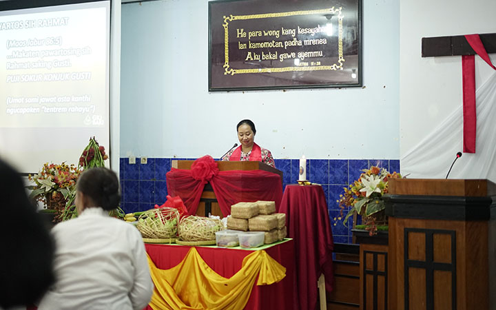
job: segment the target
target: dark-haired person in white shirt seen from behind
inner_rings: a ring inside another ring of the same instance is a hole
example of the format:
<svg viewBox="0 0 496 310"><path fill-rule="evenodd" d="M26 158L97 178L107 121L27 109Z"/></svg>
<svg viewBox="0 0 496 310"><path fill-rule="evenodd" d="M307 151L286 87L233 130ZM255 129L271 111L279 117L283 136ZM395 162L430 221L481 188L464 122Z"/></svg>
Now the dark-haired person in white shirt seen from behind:
<svg viewBox="0 0 496 310"><path fill-rule="evenodd" d="M39 310L146 307L154 286L141 234L134 225L108 214L120 200L112 170L96 167L79 176L79 216L52 229L56 283Z"/></svg>

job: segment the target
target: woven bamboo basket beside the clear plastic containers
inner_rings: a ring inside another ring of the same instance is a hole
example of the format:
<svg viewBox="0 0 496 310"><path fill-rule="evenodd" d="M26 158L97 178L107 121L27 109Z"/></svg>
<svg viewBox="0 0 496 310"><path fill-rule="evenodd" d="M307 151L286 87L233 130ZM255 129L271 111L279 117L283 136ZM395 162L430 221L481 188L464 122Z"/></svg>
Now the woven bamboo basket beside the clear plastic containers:
<svg viewBox="0 0 496 310"><path fill-rule="evenodd" d="M222 221L217 218L187 216L180 220L178 226L179 240L176 242L181 244L183 241L215 241L216 231L223 229ZM215 244L215 242L212 244Z"/></svg>

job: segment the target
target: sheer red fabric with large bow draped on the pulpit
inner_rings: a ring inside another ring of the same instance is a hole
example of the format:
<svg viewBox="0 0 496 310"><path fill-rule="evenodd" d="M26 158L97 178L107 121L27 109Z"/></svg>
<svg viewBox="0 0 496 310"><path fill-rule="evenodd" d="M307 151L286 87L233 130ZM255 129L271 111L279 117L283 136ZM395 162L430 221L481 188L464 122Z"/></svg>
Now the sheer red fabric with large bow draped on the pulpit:
<svg viewBox="0 0 496 310"><path fill-rule="evenodd" d="M240 201L271 200L279 209L282 198L281 180L278 174L262 170L219 171L211 156L198 158L191 170L172 168L167 172L167 193L179 196L188 214L196 214L205 184L210 183L216 195L220 211L231 214L231 205Z"/></svg>

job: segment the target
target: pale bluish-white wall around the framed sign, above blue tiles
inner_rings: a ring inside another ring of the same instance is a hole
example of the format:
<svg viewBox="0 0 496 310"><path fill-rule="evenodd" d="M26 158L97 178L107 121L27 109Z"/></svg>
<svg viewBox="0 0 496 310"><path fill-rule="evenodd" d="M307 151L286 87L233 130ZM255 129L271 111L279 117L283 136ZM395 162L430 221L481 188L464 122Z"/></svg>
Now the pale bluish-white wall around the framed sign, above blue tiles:
<svg viewBox="0 0 496 310"><path fill-rule="evenodd" d="M211 93L208 2L123 4L121 157L218 157L251 118L275 158L399 158L399 3L363 2L364 87Z"/></svg>

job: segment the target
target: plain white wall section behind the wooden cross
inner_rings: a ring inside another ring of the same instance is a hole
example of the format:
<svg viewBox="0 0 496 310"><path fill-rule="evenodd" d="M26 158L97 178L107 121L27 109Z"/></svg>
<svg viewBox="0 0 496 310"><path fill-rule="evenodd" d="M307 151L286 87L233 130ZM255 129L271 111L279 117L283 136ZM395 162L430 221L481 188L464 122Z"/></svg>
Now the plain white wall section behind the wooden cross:
<svg viewBox="0 0 496 310"><path fill-rule="evenodd" d="M401 157L462 105L462 56L422 58L422 37L496 32L495 13L494 0L401 1ZM475 72L480 85L494 70L475 56Z"/></svg>

